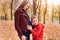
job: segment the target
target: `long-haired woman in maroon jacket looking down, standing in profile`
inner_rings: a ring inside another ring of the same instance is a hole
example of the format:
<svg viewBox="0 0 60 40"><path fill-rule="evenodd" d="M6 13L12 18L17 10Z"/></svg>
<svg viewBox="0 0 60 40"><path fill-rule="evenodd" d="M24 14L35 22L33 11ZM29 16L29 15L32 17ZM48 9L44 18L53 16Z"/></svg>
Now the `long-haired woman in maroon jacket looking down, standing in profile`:
<svg viewBox="0 0 60 40"><path fill-rule="evenodd" d="M29 20L29 16L26 11L29 9L28 1L23 1L19 8L15 11L15 29L18 32L18 36L21 40L29 40L29 32L27 31L27 25L32 25Z"/></svg>

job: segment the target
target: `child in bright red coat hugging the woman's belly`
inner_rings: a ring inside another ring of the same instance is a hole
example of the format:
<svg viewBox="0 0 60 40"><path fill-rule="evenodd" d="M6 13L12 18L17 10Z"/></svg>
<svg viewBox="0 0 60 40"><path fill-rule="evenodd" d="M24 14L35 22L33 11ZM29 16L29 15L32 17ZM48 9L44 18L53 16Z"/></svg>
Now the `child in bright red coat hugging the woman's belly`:
<svg viewBox="0 0 60 40"><path fill-rule="evenodd" d="M43 40L44 25L38 22L38 18L36 16L33 16L31 21L34 28L32 29L32 27L28 25L27 29L31 31L33 40Z"/></svg>

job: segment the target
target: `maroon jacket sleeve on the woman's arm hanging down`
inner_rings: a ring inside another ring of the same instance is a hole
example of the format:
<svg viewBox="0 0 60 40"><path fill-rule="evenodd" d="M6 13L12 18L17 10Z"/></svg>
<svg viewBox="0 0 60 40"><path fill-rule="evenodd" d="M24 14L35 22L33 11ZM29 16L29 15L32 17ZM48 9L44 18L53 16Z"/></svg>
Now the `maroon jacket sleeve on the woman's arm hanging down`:
<svg viewBox="0 0 60 40"><path fill-rule="evenodd" d="M17 10L17 11L15 12L14 17L15 17L15 29L17 30L18 34L19 34L20 37L21 37L21 36L23 35L23 33L22 33L22 30L21 30L21 28L20 28L20 26L19 26L19 20L20 20L20 16L21 16L20 13L21 13L21 12L20 12L19 10Z"/></svg>

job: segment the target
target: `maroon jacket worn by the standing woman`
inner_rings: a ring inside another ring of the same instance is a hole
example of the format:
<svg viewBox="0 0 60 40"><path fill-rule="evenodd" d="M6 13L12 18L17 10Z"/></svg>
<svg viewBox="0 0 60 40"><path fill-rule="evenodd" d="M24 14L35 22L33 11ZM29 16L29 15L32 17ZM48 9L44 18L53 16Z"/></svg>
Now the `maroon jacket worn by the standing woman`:
<svg viewBox="0 0 60 40"><path fill-rule="evenodd" d="M22 8L18 8L14 15L15 18L15 29L18 32L18 35L21 37L23 32L27 30L27 23L28 23L28 15L26 11Z"/></svg>

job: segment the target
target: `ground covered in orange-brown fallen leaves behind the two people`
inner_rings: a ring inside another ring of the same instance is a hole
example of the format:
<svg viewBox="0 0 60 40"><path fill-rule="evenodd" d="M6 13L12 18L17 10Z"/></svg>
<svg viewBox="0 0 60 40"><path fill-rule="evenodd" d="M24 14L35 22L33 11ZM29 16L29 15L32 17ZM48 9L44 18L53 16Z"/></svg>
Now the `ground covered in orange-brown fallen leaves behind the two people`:
<svg viewBox="0 0 60 40"><path fill-rule="evenodd" d="M0 40L19 40L13 21L0 21ZM60 40L60 24L45 24L44 40Z"/></svg>

